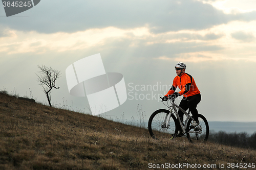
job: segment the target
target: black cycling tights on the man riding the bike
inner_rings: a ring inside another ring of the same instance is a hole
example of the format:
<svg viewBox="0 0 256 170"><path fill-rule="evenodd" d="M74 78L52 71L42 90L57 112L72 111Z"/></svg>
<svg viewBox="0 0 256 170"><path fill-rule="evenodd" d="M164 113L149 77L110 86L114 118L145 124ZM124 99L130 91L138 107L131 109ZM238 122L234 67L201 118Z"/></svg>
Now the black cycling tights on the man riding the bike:
<svg viewBox="0 0 256 170"><path fill-rule="evenodd" d="M199 93L199 94L196 94L196 95L189 96L187 98L183 97L179 106L182 109L184 109L185 111L187 109L189 109L190 112L192 113L194 119L198 120L197 105L199 104L200 101L201 101L201 94ZM184 113L179 110L178 114L180 116L181 121L183 122Z"/></svg>

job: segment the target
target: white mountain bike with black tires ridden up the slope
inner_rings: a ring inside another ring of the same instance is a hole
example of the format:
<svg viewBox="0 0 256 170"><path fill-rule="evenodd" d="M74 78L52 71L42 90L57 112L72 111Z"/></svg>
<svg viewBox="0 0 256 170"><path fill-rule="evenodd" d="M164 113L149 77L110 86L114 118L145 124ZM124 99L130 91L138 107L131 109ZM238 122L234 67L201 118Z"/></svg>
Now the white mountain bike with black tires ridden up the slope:
<svg viewBox="0 0 256 170"><path fill-rule="evenodd" d="M162 99L162 98L161 98ZM179 136L186 136L190 142L202 143L206 142L209 136L209 125L206 118L202 114L198 114L199 125L194 127L191 122L194 121L193 116L190 116L190 110L186 112L175 103L175 98L169 97L166 101L162 101L168 109L156 110L148 120L148 131L154 139L174 139L178 134L178 125L181 130ZM178 109L181 110L186 119L181 121L178 114Z"/></svg>

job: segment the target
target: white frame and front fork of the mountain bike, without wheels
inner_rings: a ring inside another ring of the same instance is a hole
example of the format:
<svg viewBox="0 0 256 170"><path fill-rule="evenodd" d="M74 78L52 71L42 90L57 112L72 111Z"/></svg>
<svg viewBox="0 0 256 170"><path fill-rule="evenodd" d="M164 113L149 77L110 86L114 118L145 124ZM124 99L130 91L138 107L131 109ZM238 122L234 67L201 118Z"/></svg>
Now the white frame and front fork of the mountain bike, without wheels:
<svg viewBox="0 0 256 170"><path fill-rule="evenodd" d="M171 116L172 114L174 114L174 113L173 113L173 109L174 109L175 114L176 114L176 117L177 117L178 120L179 120L181 129L182 129L182 132L183 132L183 133L195 133L195 131L193 131L193 132L186 132L186 130L185 130L185 128L184 128L184 127L187 127L188 119L190 118L190 119L194 120L194 118L191 117L191 116L189 115L189 113L187 113L187 112L186 112L184 109L182 109L180 106L176 105L176 104L174 103L175 100L169 99L169 101L170 101L170 104L171 104L171 105L170 105L170 106L166 105L166 106L168 106L168 110L169 110L169 112L170 112L170 114L168 114L168 116L165 118L165 122L166 122L165 125L166 125L166 127L167 127L167 125L169 124L170 116ZM178 114L177 108L179 108L179 110L181 110L181 111L186 115L185 125L183 125L183 123L181 122L181 119L180 119L180 116L179 116L179 114Z"/></svg>

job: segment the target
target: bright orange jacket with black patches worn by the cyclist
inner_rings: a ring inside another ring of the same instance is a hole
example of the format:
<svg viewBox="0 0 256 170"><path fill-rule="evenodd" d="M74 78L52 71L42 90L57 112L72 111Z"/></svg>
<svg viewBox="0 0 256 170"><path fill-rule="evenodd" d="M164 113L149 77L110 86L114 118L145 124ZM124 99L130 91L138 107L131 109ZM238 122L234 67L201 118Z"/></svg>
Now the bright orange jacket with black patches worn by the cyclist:
<svg viewBox="0 0 256 170"><path fill-rule="evenodd" d="M179 92L180 95L184 95L187 97L200 93L194 78L186 72L184 72L184 74L181 77L176 76L174 78L173 86L170 88L167 94L165 94L165 96L173 94L177 87L179 87L179 89L181 90Z"/></svg>

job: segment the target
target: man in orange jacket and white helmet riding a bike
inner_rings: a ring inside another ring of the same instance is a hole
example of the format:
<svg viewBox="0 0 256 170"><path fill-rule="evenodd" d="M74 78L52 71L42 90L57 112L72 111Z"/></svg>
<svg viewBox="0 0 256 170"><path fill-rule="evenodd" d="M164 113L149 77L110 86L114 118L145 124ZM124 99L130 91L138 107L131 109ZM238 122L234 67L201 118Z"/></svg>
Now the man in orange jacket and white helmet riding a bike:
<svg viewBox="0 0 256 170"><path fill-rule="evenodd" d="M187 109L191 111L194 117L194 122L191 125L196 127L197 125L199 125L197 105L201 101L200 91L197 88L194 78L185 72L186 64L179 62L175 65L175 69L177 76L174 78L172 87L169 89L167 94L163 96L162 99L163 101L167 101L168 96L172 96L172 98L177 98L178 96L183 95L179 106L185 111ZM181 90L180 92L175 92L177 87L179 87L179 89ZM180 116L181 122L183 122L184 113L179 110L178 114ZM178 136L180 136L180 124L178 124L177 128L179 130Z"/></svg>

